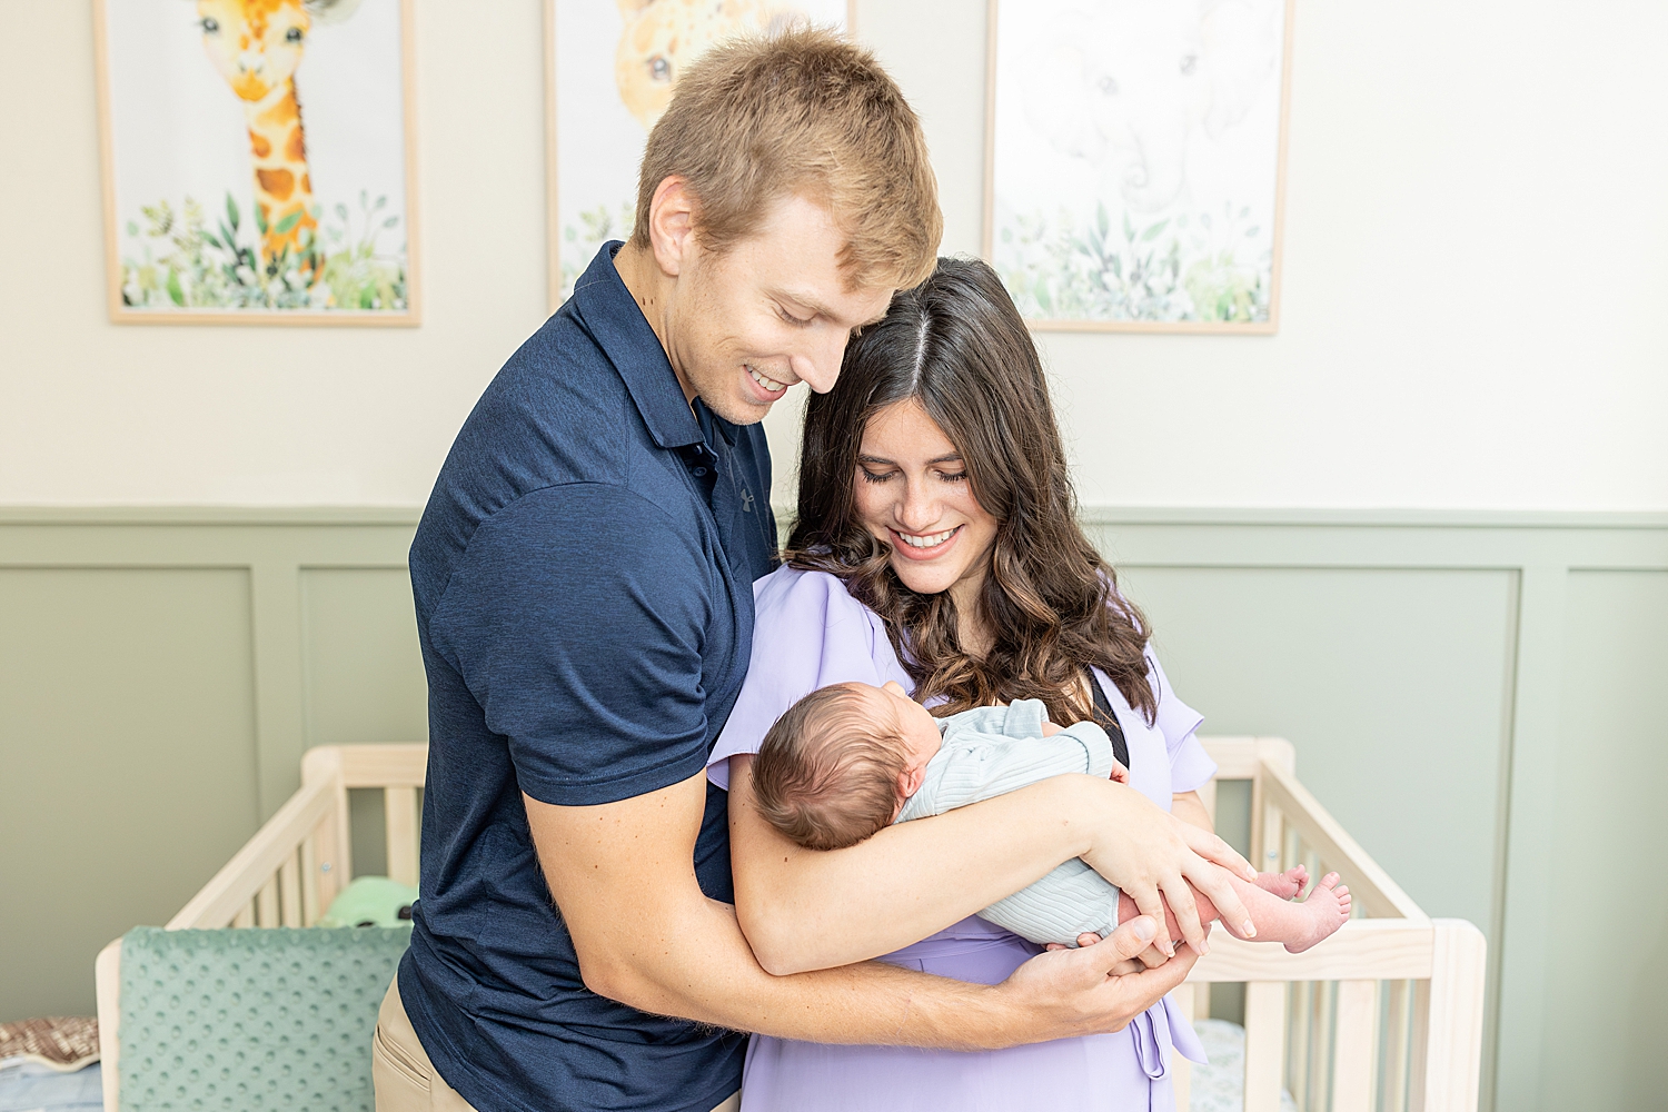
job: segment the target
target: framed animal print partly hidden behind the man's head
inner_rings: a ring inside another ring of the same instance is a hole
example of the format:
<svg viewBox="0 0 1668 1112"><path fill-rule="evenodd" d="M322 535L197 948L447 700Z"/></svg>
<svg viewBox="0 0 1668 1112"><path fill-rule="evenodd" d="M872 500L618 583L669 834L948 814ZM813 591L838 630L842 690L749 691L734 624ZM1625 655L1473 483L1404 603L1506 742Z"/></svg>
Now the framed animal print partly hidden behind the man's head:
<svg viewBox="0 0 1668 1112"><path fill-rule="evenodd" d="M637 163L677 77L732 35L851 32L856 0L545 0L550 312L597 248L631 237Z"/></svg>

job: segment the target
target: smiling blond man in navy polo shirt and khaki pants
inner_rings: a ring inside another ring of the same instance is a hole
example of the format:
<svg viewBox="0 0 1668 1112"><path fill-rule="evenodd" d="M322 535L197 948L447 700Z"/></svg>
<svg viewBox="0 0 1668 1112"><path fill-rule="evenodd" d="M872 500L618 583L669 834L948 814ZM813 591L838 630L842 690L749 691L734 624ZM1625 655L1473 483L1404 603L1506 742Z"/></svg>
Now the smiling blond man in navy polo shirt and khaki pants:
<svg viewBox="0 0 1668 1112"><path fill-rule="evenodd" d="M424 897L379 1017L379 1112L709 1112L734 1107L737 1030L1014 1045L1118 1029L1184 975L1108 979L1144 919L997 987L771 977L729 907L704 765L776 547L757 422L834 385L939 233L919 122L867 53L802 30L682 77L632 242L487 388L412 545Z"/></svg>

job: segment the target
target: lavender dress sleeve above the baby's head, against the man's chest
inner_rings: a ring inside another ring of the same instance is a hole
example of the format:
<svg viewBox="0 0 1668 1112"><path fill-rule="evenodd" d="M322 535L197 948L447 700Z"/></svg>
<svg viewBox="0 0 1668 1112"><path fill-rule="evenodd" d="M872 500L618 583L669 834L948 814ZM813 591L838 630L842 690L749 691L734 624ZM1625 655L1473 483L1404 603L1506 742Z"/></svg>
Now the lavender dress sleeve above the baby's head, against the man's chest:
<svg viewBox="0 0 1668 1112"><path fill-rule="evenodd" d="M756 754L782 712L829 684L896 680L911 690L881 619L827 572L782 567L752 585L752 655L736 707L707 757L707 779L729 790L729 759Z"/></svg>

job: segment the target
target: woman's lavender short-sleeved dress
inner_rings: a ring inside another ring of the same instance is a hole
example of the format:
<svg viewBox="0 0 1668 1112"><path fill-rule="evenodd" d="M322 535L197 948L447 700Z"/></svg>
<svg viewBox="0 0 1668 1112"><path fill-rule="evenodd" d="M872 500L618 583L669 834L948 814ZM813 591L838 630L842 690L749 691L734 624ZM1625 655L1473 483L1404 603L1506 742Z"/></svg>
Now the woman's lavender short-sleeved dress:
<svg viewBox="0 0 1668 1112"><path fill-rule="evenodd" d="M729 759L759 752L766 730L799 697L827 684L909 675L881 619L824 572L779 569L752 587L757 607L752 662L736 710L712 750L707 775L729 787ZM1169 810L1216 772L1194 739L1201 719L1178 700L1151 655L1161 685L1158 722L1096 674L1129 742L1131 784ZM1006 980L1041 952L1024 939L967 917L881 960L977 984ZM834 1047L754 1035L742 1074L742 1112L1123 1112L1176 1105L1173 1054L1204 1060L1193 1029L1169 1000L1111 1035L1059 1039L1011 1050L961 1054L904 1047Z"/></svg>

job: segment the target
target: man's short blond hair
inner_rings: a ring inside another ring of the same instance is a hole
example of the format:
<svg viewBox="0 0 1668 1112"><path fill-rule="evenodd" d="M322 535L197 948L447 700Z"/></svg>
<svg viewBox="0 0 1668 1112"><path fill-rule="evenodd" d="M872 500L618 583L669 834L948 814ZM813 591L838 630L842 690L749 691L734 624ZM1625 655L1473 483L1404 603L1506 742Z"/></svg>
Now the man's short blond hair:
<svg viewBox="0 0 1668 1112"><path fill-rule="evenodd" d="M919 285L944 232L921 120L872 53L829 30L734 38L679 78L642 153L634 247L649 247L649 207L672 175L716 252L782 197L826 205L849 288Z"/></svg>

